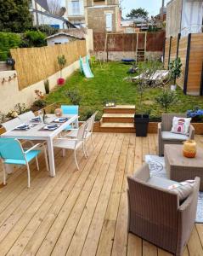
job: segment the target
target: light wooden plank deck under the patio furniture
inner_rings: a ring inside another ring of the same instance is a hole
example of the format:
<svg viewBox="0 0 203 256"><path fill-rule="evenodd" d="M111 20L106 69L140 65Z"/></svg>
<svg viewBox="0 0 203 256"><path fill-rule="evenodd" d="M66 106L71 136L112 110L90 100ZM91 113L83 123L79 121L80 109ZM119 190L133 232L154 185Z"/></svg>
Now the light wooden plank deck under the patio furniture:
<svg viewBox="0 0 203 256"><path fill-rule="evenodd" d="M196 137L203 146L203 137ZM86 160L56 151L57 175L43 162L31 165L31 189L25 169L14 172L0 189L0 255L171 255L127 234L127 175L156 154L156 135L97 133ZM203 255L203 224L196 224L184 256Z"/></svg>

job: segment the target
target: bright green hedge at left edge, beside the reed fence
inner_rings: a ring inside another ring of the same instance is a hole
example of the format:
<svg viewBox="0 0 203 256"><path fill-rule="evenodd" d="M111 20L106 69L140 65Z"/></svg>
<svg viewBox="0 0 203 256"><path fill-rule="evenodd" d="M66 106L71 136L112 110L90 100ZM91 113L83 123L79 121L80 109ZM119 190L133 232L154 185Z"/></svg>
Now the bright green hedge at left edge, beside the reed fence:
<svg viewBox="0 0 203 256"><path fill-rule="evenodd" d="M0 61L6 61L10 55L9 50L18 48L20 44L22 44L22 40L19 34L0 32Z"/></svg>

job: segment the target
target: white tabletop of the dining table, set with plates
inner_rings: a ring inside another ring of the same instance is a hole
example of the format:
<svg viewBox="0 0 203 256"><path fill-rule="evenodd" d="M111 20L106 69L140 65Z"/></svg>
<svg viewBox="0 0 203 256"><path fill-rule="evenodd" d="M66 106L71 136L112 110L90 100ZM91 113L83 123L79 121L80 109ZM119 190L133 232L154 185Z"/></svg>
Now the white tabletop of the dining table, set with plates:
<svg viewBox="0 0 203 256"><path fill-rule="evenodd" d="M31 139L31 140L48 139L49 137L57 136L59 132L63 131L65 127L73 123L78 118L78 116L74 114L64 114L63 117L68 118L68 120L65 121L65 123L61 123L59 125L59 128L55 129L54 131L45 131L42 128L45 125L51 124L54 121L54 119L57 119L57 117L54 114L48 114L47 117L48 118L46 119L46 124L37 123L37 125L31 127L31 129L27 131L17 131L17 130L6 131L1 135L1 137L14 137L19 139Z"/></svg>

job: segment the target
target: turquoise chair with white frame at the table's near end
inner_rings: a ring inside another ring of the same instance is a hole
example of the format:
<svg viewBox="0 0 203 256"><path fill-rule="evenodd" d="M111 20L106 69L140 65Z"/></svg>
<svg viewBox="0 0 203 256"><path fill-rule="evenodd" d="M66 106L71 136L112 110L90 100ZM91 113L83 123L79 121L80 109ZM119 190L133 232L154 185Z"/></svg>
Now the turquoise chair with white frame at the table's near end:
<svg viewBox="0 0 203 256"><path fill-rule="evenodd" d="M31 176L30 176L30 167L29 162L36 159L37 170L39 171L39 164L37 160L37 155L41 153L41 150L37 150L40 144L36 144L29 149L22 148L22 145L19 140L14 138L0 138L0 157L3 162L3 184L6 184L6 165L22 165L27 167L27 175L28 175L28 188L30 188ZM44 150L46 166L48 169L48 158L47 152Z"/></svg>

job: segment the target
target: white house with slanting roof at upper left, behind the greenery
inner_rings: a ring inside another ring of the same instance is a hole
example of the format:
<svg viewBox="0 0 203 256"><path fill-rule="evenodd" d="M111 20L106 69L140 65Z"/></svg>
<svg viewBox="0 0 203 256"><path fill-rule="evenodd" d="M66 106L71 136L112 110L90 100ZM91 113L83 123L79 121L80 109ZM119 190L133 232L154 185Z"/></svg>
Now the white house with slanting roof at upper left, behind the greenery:
<svg viewBox="0 0 203 256"><path fill-rule="evenodd" d="M50 14L47 0L31 0L30 12L34 26L48 25L59 29L75 27L64 17Z"/></svg>

